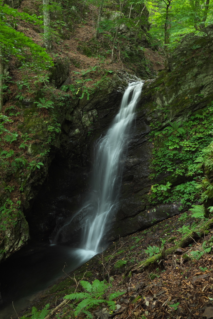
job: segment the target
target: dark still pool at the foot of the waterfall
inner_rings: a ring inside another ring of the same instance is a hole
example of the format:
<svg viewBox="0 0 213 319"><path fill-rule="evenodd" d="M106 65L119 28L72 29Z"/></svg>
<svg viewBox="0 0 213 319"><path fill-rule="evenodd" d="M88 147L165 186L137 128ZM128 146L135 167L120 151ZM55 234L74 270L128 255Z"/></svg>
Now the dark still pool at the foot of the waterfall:
<svg viewBox="0 0 213 319"><path fill-rule="evenodd" d="M15 311L32 303L33 295L53 284L66 273L73 271L90 259L82 258L81 249L69 246L47 245L25 247L0 265L0 283L3 304L0 318L16 318Z"/></svg>

